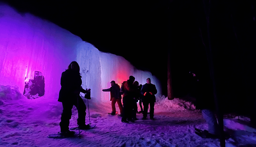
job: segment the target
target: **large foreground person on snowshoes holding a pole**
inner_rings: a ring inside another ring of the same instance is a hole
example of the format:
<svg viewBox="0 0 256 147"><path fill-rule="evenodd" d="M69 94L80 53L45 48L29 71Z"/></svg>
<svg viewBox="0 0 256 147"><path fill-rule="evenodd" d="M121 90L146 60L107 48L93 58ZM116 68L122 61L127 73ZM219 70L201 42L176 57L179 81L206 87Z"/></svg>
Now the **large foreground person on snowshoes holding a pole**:
<svg viewBox="0 0 256 147"><path fill-rule="evenodd" d="M69 136L75 132L69 130L69 122L72 115L73 105L77 107L78 119L77 124L80 129L87 129L90 125L85 124L86 105L80 97L80 92L90 93L91 89L85 90L82 88L82 80L80 76L80 67L76 61L73 61L68 66L68 69L61 75L61 90L59 93L59 102L62 102L63 111L61 114L61 135ZM90 99L87 98L87 99Z"/></svg>

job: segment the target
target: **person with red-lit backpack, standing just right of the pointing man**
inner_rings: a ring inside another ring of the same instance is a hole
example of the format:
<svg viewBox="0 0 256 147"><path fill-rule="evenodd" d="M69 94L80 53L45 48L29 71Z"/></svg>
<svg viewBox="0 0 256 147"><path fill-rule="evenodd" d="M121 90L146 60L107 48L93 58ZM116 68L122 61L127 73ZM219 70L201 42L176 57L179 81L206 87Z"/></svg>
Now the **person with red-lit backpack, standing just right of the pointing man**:
<svg viewBox="0 0 256 147"><path fill-rule="evenodd" d="M134 98L134 88L133 88L133 82L135 81L134 76L129 76L129 80L124 81L122 83L120 92L123 94L123 104L124 104L124 111L122 116L122 122L128 123L128 120L131 122L134 122L132 119L132 102Z"/></svg>

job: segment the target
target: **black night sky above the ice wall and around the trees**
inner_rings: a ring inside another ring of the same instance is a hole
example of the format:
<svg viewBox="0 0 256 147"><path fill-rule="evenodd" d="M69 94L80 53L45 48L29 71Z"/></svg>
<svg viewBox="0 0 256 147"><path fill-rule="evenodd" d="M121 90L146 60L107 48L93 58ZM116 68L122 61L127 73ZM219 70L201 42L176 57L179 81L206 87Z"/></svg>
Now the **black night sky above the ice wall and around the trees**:
<svg viewBox="0 0 256 147"><path fill-rule="evenodd" d="M219 94L227 101L255 97L254 1L211 1L210 7L206 0L9 0L8 4L69 30L100 51L123 56L138 69L151 71L166 87L165 95L167 50L171 51L177 97L186 95L183 77L190 70L209 74L206 55L211 50Z"/></svg>

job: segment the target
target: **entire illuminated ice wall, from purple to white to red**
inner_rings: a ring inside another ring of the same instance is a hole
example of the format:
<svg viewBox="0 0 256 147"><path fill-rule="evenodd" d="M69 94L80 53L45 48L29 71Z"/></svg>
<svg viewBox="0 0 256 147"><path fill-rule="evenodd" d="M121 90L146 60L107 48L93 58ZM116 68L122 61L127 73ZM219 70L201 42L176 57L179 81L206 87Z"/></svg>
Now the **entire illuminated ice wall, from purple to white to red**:
<svg viewBox="0 0 256 147"><path fill-rule="evenodd" d="M91 88L91 97L97 100L110 99L109 93L102 92L110 87L110 81L121 85L130 75L139 84L151 78L161 94L159 81L150 72L137 70L123 57L100 52L47 20L0 4L0 22L0 85L18 86L23 93L25 82L33 80L38 71L45 78L44 97L57 99L61 73L71 61L77 61L83 88Z"/></svg>

